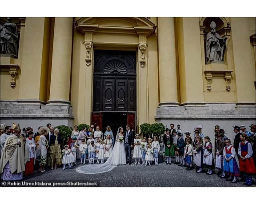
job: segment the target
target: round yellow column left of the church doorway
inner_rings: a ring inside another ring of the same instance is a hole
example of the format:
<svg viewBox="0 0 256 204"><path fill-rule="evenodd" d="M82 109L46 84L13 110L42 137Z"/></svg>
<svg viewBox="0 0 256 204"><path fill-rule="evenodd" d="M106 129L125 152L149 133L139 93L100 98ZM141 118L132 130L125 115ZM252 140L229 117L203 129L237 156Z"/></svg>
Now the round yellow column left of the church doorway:
<svg viewBox="0 0 256 204"><path fill-rule="evenodd" d="M73 18L55 18L49 105L69 105Z"/></svg>

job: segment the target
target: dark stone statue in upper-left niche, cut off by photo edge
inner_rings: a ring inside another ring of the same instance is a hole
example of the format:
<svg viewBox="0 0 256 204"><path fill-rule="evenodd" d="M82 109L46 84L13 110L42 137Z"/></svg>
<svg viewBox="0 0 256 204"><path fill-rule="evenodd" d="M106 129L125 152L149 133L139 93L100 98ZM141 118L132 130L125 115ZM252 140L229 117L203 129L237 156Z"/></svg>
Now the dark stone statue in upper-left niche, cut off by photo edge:
<svg viewBox="0 0 256 204"><path fill-rule="evenodd" d="M17 40L17 26L15 23L12 23L12 19L8 17L3 27L1 25L1 54L8 54L13 58L17 58Z"/></svg>

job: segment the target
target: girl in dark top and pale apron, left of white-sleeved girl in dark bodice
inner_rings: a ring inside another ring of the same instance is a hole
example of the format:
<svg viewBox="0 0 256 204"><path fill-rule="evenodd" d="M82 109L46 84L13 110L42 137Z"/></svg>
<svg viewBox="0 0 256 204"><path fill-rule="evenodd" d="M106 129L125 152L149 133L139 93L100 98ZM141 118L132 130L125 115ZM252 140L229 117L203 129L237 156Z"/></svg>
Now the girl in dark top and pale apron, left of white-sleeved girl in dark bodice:
<svg viewBox="0 0 256 204"><path fill-rule="evenodd" d="M194 147L194 160L195 160L195 165L197 166L197 173L202 172L203 170L203 140L201 136L196 136L196 144Z"/></svg>

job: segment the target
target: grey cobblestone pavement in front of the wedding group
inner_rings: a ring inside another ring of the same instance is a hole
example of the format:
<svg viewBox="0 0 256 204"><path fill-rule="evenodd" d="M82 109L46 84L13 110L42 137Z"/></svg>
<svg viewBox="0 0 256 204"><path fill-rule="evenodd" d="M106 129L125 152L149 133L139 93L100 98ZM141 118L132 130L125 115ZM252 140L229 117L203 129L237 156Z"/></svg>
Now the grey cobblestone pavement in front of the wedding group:
<svg viewBox="0 0 256 204"><path fill-rule="evenodd" d="M117 166L106 173L90 175L77 173L76 167L64 171L61 167L54 170L47 169L45 173L36 172L26 176L24 180L98 180L101 181L101 186L244 186L241 181L232 184L230 181L220 179L216 174L196 173L195 169L187 171L185 167L173 163L171 165L160 163L158 166L132 163Z"/></svg>

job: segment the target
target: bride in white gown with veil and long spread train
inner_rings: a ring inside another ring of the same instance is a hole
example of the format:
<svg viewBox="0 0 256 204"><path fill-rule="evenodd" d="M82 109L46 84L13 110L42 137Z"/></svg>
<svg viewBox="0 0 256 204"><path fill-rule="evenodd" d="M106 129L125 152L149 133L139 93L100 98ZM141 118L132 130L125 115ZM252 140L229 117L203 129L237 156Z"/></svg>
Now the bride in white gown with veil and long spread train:
<svg viewBox="0 0 256 204"><path fill-rule="evenodd" d="M126 154L124 148L123 128L120 127L117 131L116 142L112 153L104 164L89 164L76 168L76 172L85 174L96 174L111 171L118 165L126 164Z"/></svg>

